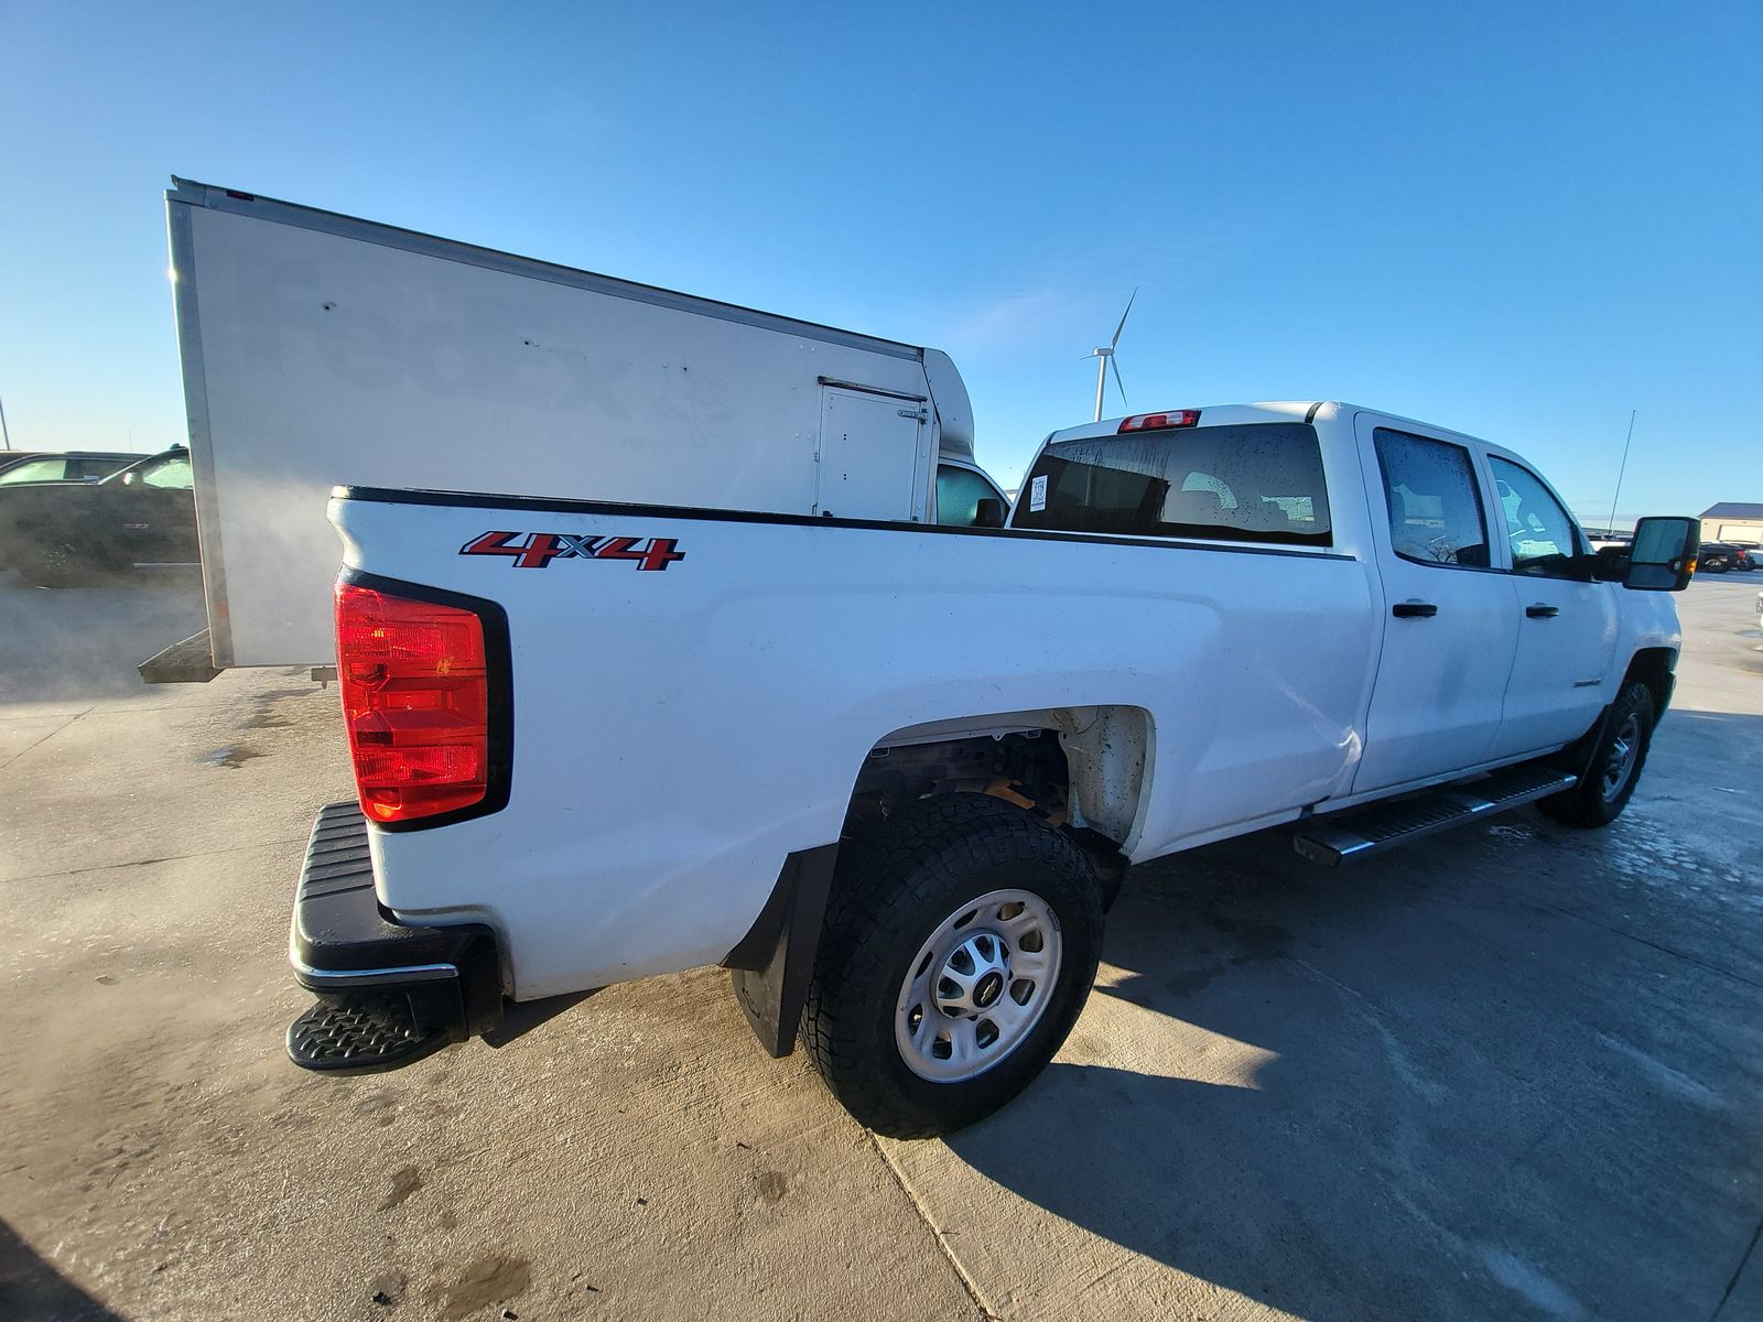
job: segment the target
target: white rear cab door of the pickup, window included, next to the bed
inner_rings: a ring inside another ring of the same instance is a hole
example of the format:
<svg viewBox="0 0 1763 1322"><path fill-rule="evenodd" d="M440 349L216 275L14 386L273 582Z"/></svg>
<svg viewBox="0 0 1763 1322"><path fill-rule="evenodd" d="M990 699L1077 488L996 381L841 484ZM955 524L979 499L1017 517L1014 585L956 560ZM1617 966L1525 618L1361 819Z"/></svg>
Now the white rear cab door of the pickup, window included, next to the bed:
<svg viewBox="0 0 1763 1322"><path fill-rule="evenodd" d="M1493 566L1477 457L1372 414L1356 428L1384 583L1358 795L1495 756L1518 619Z"/></svg>

